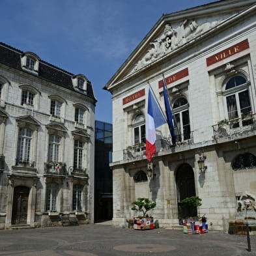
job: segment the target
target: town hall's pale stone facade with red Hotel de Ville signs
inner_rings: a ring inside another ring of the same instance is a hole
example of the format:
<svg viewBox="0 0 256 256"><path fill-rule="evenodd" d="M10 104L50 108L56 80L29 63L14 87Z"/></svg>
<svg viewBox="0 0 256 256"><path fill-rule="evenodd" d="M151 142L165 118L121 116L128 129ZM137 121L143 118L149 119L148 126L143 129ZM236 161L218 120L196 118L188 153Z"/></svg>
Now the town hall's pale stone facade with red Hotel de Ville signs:
<svg viewBox="0 0 256 256"><path fill-rule="evenodd" d="M256 1L216 1L163 15L109 80L114 225L127 225L131 203L148 197L160 227L197 214L210 229L227 231L240 197L255 201L255 48ZM175 141L167 125L157 128L157 153L148 163L148 89L164 109L163 74ZM181 204L194 195L201 206Z"/></svg>

